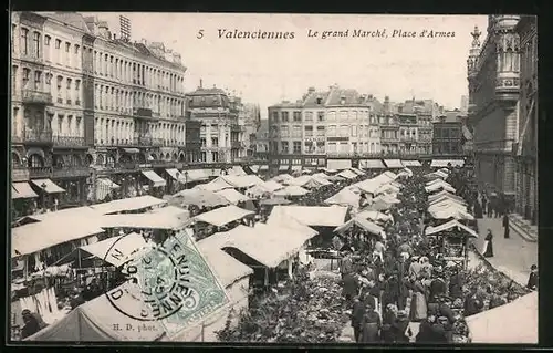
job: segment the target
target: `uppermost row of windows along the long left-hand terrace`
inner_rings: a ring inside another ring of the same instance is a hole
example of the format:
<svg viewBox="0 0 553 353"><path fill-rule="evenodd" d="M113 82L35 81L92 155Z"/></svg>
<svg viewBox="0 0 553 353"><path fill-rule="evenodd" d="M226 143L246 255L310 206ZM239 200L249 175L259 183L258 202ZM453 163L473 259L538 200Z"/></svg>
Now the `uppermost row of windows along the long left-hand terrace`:
<svg viewBox="0 0 553 353"><path fill-rule="evenodd" d="M20 35L18 35L18 30ZM90 68L95 74L114 79L119 83L137 84L177 94L185 92L182 74L102 53L93 48L84 46L81 49L79 44L63 42L61 39L54 39L52 43L52 37L44 35L42 40L42 34L39 31L32 32L32 39L30 35L29 29L12 24L12 51L24 56L44 59L76 69ZM20 40L17 41L17 38ZM82 50L85 51L86 55L83 55Z"/></svg>

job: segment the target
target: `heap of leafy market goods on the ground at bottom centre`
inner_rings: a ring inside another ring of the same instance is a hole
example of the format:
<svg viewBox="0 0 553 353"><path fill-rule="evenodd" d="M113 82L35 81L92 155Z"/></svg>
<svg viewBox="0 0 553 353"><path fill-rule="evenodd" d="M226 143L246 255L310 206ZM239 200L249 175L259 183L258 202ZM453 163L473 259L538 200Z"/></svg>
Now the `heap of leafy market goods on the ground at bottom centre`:
<svg viewBox="0 0 553 353"><path fill-rule="evenodd" d="M348 321L337 279L302 273L273 288L218 336L223 342L325 343L337 342Z"/></svg>

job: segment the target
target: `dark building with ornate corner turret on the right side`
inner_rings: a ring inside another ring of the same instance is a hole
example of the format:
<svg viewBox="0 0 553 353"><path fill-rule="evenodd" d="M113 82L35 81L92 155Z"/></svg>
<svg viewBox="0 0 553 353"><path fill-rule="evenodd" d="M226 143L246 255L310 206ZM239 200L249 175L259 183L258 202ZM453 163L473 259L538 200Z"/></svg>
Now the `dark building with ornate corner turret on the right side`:
<svg viewBox="0 0 553 353"><path fill-rule="evenodd" d="M467 61L474 174L481 188L503 195L511 206L515 194L512 149L519 129L519 15L490 15L481 46L478 28L471 33Z"/></svg>

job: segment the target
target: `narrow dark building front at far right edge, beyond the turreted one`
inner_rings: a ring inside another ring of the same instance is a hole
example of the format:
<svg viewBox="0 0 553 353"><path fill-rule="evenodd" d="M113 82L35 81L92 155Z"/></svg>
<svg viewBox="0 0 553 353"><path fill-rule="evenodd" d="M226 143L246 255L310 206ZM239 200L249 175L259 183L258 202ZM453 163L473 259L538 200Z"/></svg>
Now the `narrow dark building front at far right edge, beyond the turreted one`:
<svg viewBox="0 0 553 353"><path fill-rule="evenodd" d="M535 15L523 15L520 37L519 138L513 148L515 211L538 221L538 29Z"/></svg>

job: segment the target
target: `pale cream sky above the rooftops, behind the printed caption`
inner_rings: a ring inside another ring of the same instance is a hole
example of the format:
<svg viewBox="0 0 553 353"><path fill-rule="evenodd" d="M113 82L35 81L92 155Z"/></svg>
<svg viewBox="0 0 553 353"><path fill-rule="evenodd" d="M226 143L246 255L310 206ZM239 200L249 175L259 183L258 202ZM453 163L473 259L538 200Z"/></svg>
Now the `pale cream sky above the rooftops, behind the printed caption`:
<svg viewBox="0 0 553 353"><path fill-rule="evenodd" d="M468 94L470 33L478 25L483 42L488 27L487 15L83 14L107 21L117 37L118 15L127 17L132 40L161 41L181 54L187 92L202 80L204 87L234 91L242 101L259 104L262 117L268 106L300 100L310 86L323 91L333 84L380 101L385 95L393 102L428 98L459 107ZM293 32L294 38L227 39L219 38L221 30ZM346 30L347 37L322 38L324 31ZM380 37L354 38L354 30L379 31ZM430 31L449 37L429 38Z"/></svg>

